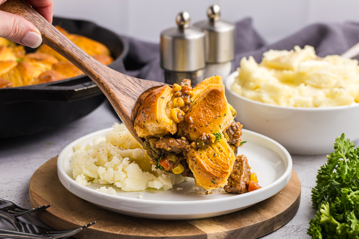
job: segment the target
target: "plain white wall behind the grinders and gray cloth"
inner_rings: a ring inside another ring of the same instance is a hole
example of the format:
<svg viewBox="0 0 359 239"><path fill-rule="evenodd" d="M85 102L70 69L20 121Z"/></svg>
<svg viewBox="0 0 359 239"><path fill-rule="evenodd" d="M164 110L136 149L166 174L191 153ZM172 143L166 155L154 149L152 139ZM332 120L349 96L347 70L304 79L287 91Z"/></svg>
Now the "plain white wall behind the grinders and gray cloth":
<svg viewBox="0 0 359 239"><path fill-rule="evenodd" d="M218 4L222 18L238 21L252 17L253 25L275 42L307 24L359 22L358 0L53 0L54 14L86 19L114 32L159 42L162 30L175 26L176 14L188 11L191 22L207 18L206 9Z"/></svg>

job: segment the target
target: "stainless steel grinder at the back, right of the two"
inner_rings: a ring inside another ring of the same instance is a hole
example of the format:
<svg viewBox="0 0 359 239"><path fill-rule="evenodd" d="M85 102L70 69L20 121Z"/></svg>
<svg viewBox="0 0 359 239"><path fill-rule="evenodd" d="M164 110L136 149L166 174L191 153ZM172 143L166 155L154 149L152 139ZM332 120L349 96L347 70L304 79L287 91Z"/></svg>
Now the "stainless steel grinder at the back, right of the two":
<svg viewBox="0 0 359 239"><path fill-rule="evenodd" d="M206 70L205 78L220 75L223 79L234 71L234 41L235 25L220 20L218 5L210 6L207 10L209 20L193 24L206 33Z"/></svg>

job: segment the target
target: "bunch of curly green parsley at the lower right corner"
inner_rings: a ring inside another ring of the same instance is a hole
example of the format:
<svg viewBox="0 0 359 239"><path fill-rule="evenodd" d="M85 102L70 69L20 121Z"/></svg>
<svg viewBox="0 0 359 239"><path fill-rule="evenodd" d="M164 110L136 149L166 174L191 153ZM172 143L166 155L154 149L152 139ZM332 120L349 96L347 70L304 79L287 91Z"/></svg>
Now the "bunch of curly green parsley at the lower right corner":
<svg viewBox="0 0 359 239"><path fill-rule="evenodd" d="M318 210L309 223L312 238L358 238L359 152L345 134L337 137L334 153L327 156L312 189L312 206Z"/></svg>

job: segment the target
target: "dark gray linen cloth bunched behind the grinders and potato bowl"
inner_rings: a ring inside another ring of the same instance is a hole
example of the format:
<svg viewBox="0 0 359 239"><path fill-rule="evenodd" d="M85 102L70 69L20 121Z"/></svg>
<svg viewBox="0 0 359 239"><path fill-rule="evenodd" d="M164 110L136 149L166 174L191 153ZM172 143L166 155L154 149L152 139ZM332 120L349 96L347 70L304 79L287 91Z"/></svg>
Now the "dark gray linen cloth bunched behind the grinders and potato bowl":
<svg viewBox="0 0 359 239"><path fill-rule="evenodd" d="M124 37L130 44L125 59L127 74L141 79L161 81L159 44L142 42ZM269 49L290 50L298 45L313 46L320 57L342 54L359 42L359 24L312 24L279 42L267 44L252 26L252 19L246 18L236 23L236 59L239 66L242 57L253 56L259 63L262 54Z"/></svg>

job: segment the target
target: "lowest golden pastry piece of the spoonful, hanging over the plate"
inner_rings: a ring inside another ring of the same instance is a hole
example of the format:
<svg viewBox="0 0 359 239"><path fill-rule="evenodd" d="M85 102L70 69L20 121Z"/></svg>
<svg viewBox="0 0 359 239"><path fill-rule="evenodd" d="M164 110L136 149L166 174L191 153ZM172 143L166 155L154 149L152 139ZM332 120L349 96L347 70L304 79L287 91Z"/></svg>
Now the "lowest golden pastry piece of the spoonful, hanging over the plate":
<svg viewBox="0 0 359 239"><path fill-rule="evenodd" d="M191 148L187 153L196 185L209 192L227 183L235 160L236 156L223 138L206 149Z"/></svg>

